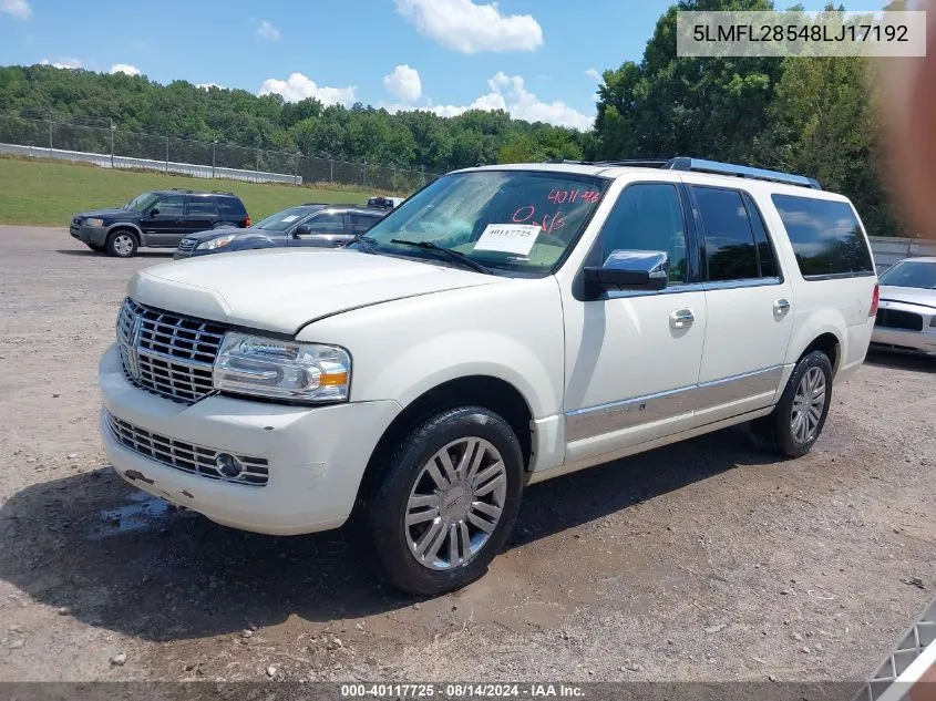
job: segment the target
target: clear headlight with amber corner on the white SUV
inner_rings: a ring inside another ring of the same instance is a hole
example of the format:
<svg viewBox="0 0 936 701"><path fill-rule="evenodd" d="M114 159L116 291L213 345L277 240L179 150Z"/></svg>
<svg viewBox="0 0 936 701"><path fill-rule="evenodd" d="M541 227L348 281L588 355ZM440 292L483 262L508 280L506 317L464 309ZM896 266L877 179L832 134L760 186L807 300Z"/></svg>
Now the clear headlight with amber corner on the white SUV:
<svg viewBox="0 0 936 701"><path fill-rule="evenodd" d="M343 348L229 331L215 361L215 389L304 402L341 402L351 388Z"/></svg>

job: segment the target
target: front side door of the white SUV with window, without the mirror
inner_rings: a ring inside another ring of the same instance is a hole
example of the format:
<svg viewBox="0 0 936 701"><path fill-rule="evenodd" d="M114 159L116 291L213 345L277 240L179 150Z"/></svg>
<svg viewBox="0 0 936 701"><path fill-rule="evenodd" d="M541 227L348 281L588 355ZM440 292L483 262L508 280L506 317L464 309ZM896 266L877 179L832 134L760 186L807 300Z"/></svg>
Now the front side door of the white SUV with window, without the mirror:
<svg viewBox="0 0 936 701"><path fill-rule="evenodd" d="M677 182L627 185L586 258L600 265L614 250L666 251L666 289L590 301L577 299L575 286L564 292L566 463L692 425L708 315L683 205Z"/></svg>

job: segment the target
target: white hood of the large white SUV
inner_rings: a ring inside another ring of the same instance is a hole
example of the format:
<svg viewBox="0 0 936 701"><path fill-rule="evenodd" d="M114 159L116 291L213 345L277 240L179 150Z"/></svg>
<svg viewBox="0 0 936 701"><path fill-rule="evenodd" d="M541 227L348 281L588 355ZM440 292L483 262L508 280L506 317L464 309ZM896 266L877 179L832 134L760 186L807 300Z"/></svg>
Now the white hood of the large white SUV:
<svg viewBox="0 0 936 701"><path fill-rule="evenodd" d="M294 334L342 311L503 281L431 261L356 250L274 248L154 266L134 274L127 291L136 301L161 309Z"/></svg>

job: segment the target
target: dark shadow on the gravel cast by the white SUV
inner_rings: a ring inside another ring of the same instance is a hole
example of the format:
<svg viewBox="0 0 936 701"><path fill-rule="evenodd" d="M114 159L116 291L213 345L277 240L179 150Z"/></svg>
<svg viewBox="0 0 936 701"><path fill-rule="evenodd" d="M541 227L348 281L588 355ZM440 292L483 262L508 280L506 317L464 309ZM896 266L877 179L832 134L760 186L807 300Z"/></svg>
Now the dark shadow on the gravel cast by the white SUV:
<svg viewBox="0 0 936 701"><path fill-rule="evenodd" d="M773 462L749 445L743 429L733 429L531 486L511 547ZM369 560L349 528L241 533L167 508L106 467L30 486L0 508L0 577L85 623L148 640L230 633L291 614L328 621L411 605Z"/></svg>

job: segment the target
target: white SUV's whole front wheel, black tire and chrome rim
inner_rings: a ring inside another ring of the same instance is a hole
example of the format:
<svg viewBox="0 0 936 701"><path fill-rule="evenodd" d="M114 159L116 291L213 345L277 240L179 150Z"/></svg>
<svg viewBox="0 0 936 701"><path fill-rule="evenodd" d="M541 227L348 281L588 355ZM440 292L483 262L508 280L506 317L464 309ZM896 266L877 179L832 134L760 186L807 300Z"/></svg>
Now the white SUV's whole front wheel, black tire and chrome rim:
<svg viewBox="0 0 936 701"><path fill-rule="evenodd" d="M481 577L513 528L523 492L514 431L482 406L440 412L390 454L366 506L390 581L438 595Z"/></svg>

